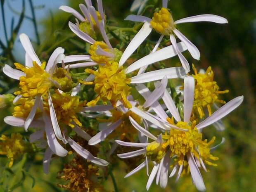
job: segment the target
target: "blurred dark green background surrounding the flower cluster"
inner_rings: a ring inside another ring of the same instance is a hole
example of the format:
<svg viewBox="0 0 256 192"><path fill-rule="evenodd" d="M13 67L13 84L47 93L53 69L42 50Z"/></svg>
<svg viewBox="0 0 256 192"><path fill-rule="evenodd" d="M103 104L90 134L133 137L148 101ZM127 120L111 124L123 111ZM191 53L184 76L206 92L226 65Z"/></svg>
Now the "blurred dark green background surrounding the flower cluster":
<svg viewBox="0 0 256 192"><path fill-rule="evenodd" d="M16 0L17 1L17 0ZM9 0L15 3L15 0ZM28 3L27 0L25 0ZM38 3L34 1L35 3ZM79 3L82 0L58 0L59 5L70 5L78 10ZM123 19L131 14L130 6L132 0L103 0L104 10L109 24L113 26L132 26L129 21ZM149 0L147 5L155 4L161 7L160 1ZM49 2L47 2L48 4ZM40 5L44 2L41 1ZM26 7L27 8L27 7ZM255 0L224 0L224 1L201 1L201 0L171 0L168 3L174 20L189 17L197 14L216 14L228 19L229 24L213 23L192 23L180 24L178 28L189 38L200 50L201 59L196 61L186 55L190 63L194 63L197 69L207 69L212 66L215 72L215 80L218 82L221 90L229 89L228 94L223 95L223 99L228 101L239 95L244 95L243 104L232 112L228 117L223 119L226 129L223 132L217 132L215 128L205 129L205 134L209 137L215 135L218 140L225 137L226 142L218 148L214 155L220 159L218 167L209 167L209 172L201 171L207 192L255 192L256 191L256 1ZM7 7L8 9L8 7ZM20 7L21 9L21 7ZM36 52L42 59L47 59L55 47L62 46L65 48L67 55L84 53L86 47L82 40L75 38L67 27L69 19L74 21L74 17L56 9L52 12L47 7L41 7L44 11L44 17L37 20L39 28L40 44L37 45L35 40ZM29 9L25 13L31 14ZM20 11L21 12L21 11ZM150 7L144 15L152 16L153 10ZM37 14L37 9L35 9ZM6 15L8 17L8 15ZM19 16L17 15L17 18ZM22 24L30 22L24 18ZM2 21L0 28L2 28ZM24 29L35 32L33 24ZM35 35L33 35L35 37ZM1 39L4 34L1 31ZM152 40L157 39L157 34L150 36ZM35 38L36 39L36 38ZM19 44L18 40L16 40ZM3 63L12 65L12 60L24 62L24 55L19 52L23 50L15 49L12 53L2 52L0 57L1 66ZM11 57L14 57L12 58ZM3 58L6 57L7 59ZM175 60L174 60L175 61ZM172 64L172 60L170 60ZM15 81L0 74L1 94L12 92L11 89L17 86ZM2 121L2 117L9 114L8 111L1 111L0 133L10 133L11 131L20 131L22 129L9 128ZM35 186L31 188L33 179L26 177L25 184L18 187L15 192L54 192L63 191L56 187L57 172L61 170L64 159L52 161L50 175L45 175L41 166L42 156L39 154L35 159L37 163L30 162L27 170L35 178ZM28 161L29 163L29 161ZM0 163L5 166L5 163ZM114 175L117 180L119 192L145 192L147 177L145 169L136 173L130 178L124 179L126 166L122 163L116 165ZM119 171L120 170L120 171ZM12 177L10 178L10 180ZM105 183L107 191L114 190L109 178ZM191 178L185 176L178 183L175 179L170 179L168 186L162 190L155 184L149 190L150 192L194 192L197 191L192 185Z"/></svg>

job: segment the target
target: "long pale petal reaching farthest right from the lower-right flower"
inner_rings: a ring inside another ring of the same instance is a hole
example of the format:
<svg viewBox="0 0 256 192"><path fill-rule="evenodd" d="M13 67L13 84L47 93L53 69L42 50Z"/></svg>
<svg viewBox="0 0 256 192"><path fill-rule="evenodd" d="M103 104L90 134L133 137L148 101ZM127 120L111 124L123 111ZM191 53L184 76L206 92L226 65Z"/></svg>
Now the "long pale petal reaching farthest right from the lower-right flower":
<svg viewBox="0 0 256 192"><path fill-rule="evenodd" d="M229 114L231 111L236 109L243 102L243 100L244 100L244 96L240 96L240 97L236 97L235 99L229 101L228 103L226 103L225 105L220 107L220 109L215 111L211 116L207 117L204 121L199 123L196 126L197 129L204 128L204 127L209 126L212 123L215 123L216 121L220 120L221 118L223 118L224 116Z"/></svg>

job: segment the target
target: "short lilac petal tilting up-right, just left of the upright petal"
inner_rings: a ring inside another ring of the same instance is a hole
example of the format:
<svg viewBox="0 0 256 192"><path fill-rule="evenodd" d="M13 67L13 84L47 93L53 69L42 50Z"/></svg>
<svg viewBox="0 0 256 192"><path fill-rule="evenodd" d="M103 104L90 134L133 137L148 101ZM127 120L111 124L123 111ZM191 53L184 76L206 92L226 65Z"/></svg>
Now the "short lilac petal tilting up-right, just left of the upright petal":
<svg viewBox="0 0 256 192"><path fill-rule="evenodd" d="M166 76L162 79L161 83L159 83L159 86L155 88L155 90L151 93L151 95L147 98L146 102L143 104L143 107L149 107L154 102L159 100L159 97L164 93L164 90L166 89L168 83L168 79Z"/></svg>

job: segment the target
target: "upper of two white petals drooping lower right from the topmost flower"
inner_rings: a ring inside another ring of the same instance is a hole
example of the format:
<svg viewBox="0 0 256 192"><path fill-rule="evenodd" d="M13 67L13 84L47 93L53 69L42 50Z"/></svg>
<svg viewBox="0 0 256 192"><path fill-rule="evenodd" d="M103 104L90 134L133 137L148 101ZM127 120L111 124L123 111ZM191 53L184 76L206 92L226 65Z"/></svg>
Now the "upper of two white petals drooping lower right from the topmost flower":
<svg viewBox="0 0 256 192"><path fill-rule="evenodd" d="M185 43L185 45L187 46L187 50L190 52L190 54L192 55L192 57L194 59L199 60L200 59L200 52L197 49L197 47L190 41L188 40L182 33L180 33L180 31L178 31L177 29L173 29L173 32L175 33L175 35L183 42Z"/></svg>

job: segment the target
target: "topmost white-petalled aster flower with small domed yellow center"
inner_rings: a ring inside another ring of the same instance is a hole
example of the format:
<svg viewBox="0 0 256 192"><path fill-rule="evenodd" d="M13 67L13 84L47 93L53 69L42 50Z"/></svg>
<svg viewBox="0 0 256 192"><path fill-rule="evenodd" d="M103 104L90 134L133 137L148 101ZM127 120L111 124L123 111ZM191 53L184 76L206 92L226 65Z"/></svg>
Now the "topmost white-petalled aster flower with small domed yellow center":
<svg viewBox="0 0 256 192"><path fill-rule="evenodd" d="M145 24L142 26L142 31L144 31L143 28L147 28L147 33L142 33L142 35L139 37L139 41L137 40L136 36L134 38L134 41L137 41L136 45L137 47L142 43L145 38L151 33L152 29L154 28L157 32L161 33L160 41L164 36L169 36L171 43L174 46L175 51L178 54L178 57L180 58L180 62L184 69L189 70L190 66L187 62L187 59L181 54L180 50L177 47L177 42L175 39L175 36L179 38L183 43L185 43L188 51L192 55L194 59L199 60L200 59L200 52L197 49L197 47L188 40L176 27L177 24L181 23L188 23L188 22L200 22L200 21L208 21L208 22L214 22L219 24L225 24L228 23L227 19L213 15L213 14L201 14L197 16L187 17L183 19L179 19L177 21L173 21L172 14L167 9L167 2L168 0L163 0L163 7L159 12L154 13L154 17L148 18L145 16L140 15L129 15L126 17L126 20L130 21L137 21L137 22L144 22Z"/></svg>

